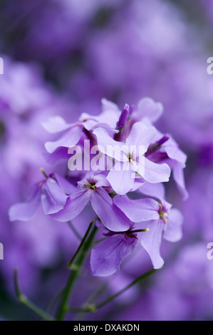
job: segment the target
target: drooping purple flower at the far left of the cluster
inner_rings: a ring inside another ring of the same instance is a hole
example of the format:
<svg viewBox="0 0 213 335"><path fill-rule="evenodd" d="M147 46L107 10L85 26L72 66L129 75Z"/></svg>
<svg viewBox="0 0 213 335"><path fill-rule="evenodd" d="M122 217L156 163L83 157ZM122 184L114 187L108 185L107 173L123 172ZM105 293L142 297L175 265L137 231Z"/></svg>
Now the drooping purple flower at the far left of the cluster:
<svg viewBox="0 0 213 335"><path fill-rule="evenodd" d="M11 206L9 218L11 221L28 221L33 218L40 203L46 215L50 215L61 210L66 204L68 195L75 187L66 179L56 173L49 175L46 180L42 180L34 185L26 202Z"/></svg>

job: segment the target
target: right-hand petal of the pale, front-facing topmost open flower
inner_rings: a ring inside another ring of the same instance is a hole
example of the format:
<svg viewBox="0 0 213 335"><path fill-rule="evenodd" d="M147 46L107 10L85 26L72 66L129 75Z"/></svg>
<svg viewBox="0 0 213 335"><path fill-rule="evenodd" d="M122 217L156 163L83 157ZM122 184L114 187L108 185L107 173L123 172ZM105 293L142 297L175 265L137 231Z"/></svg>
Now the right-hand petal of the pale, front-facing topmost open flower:
<svg viewBox="0 0 213 335"><path fill-rule="evenodd" d="M151 160L145 158L145 169L142 177L147 182L167 182L170 179L170 167L169 165L153 163ZM140 173L140 172L139 172Z"/></svg>

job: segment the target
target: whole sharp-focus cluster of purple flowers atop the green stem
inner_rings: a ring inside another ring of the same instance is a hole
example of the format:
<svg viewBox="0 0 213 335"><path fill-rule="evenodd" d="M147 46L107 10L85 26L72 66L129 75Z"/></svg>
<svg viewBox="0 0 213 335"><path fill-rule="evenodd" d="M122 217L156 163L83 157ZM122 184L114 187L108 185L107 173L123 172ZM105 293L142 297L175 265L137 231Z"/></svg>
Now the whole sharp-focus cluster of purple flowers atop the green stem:
<svg viewBox="0 0 213 335"><path fill-rule="evenodd" d="M182 237L182 214L165 200L163 182L170 180L171 171L187 198L186 155L171 135L153 125L162 110L162 104L151 98L142 98L137 106L125 104L123 110L103 99L100 115L83 113L76 123L66 123L61 116L43 122L49 133L58 134L45 144L46 158L65 165L72 160L76 170L67 170L64 176L42 170L44 180L33 186L25 203L10 208L10 220L31 220L41 202L46 215L66 222L90 204L101 236L91 251L93 275L117 272L139 239L153 267L162 267L162 238L177 242ZM78 157L78 148L83 158ZM77 168L78 159L84 160L82 170Z"/></svg>

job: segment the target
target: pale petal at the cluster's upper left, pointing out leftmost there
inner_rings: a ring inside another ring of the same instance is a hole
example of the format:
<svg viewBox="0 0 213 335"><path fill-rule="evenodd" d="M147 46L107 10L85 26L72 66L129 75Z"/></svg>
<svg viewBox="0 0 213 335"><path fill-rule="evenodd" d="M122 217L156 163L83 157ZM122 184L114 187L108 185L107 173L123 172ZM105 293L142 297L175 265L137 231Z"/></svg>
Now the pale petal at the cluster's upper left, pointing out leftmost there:
<svg viewBox="0 0 213 335"><path fill-rule="evenodd" d="M61 138L55 142L46 142L45 148L48 153L53 153L59 147L71 148L73 145L76 145L82 134L82 126L76 125L75 127L67 130Z"/></svg>

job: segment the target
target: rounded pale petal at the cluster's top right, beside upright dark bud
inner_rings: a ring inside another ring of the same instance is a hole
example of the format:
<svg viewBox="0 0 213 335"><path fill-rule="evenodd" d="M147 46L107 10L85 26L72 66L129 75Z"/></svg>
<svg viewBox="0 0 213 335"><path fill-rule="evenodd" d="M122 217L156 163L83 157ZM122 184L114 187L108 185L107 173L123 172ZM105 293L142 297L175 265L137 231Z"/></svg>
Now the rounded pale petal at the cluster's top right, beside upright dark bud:
<svg viewBox="0 0 213 335"><path fill-rule="evenodd" d="M155 122L162 115L162 103L155 103L152 98L142 98L137 104L137 115Z"/></svg>

